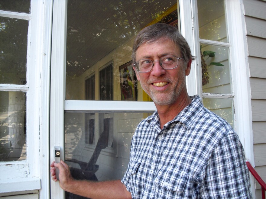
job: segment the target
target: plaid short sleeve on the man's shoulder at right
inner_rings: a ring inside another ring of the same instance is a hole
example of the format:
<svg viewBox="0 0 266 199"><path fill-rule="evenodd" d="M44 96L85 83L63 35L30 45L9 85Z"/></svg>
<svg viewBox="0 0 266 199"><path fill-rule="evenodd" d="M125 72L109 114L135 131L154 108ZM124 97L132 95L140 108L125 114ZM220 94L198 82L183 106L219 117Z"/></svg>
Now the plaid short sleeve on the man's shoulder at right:
<svg viewBox="0 0 266 199"><path fill-rule="evenodd" d="M200 198L252 198L245 153L235 132L213 150L201 186Z"/></svg>

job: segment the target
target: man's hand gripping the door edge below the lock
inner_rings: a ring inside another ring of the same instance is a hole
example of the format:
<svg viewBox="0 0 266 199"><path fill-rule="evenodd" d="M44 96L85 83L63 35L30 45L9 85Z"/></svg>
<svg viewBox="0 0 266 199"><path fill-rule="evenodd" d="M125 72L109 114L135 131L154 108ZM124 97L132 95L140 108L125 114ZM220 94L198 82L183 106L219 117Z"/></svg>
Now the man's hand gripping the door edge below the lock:
<svg viewBox="0 0 266 199"><path fill-rule="evenodd" d="M59 169L59 185L60 187L65 190L69 191L69 188L71 187L71 184L74 183L74 178L71 176L70 169L68 165L63 162L63 160L60 161L60 163L52 162L50 165L50 173L53 181L57 181L56 175L55 175L55 168Z"/></svg>

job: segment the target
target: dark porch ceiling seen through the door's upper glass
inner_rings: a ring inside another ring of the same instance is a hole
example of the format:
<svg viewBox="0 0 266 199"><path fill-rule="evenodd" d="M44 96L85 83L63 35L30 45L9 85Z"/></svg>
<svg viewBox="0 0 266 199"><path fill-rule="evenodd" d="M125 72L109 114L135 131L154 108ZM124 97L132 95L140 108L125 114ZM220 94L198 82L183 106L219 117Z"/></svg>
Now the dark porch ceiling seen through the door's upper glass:
<svg viewBox="0 0 266 199"><path fill-rule="evenodd" d="M66 75L81 75L174 4L176 0L68 1Z"/></svg>

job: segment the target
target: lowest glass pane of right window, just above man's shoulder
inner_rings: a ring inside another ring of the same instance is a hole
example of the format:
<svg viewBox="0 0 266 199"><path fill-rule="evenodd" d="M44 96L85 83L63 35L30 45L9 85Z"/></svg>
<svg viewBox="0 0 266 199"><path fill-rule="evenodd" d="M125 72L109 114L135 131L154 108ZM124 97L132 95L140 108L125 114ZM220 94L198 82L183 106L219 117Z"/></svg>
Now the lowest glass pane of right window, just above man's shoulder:
<svg viewBox="0 0 266 199"><path fill-rule="evenodd" d="M234 106L232 99L203 98L203 105L225 119L234 128Z"/></svg>

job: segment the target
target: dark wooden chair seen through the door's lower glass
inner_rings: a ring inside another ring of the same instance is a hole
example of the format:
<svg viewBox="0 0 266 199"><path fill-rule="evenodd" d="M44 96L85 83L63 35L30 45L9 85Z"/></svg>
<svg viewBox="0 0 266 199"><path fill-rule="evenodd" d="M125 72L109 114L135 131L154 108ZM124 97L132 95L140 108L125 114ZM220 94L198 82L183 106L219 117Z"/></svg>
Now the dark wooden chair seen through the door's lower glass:
<svg viewBox="0 0 266 199"><path fill-rule="evenodd" d="M67 162L73 162L79 164L80 169L70 167L70 172L73 178L78 180L98 181L95 173L98 171L99 165L96 165L96 162L100 155L101 150L105 149L108 146L108 138L109 138L109 125L104 125L104 130L100 134L99 140L96 144L95 150L89 162L82 162L76 159L66 160ZM66 192L66 199L83 199L83 198L86 197Z"/></svg>

